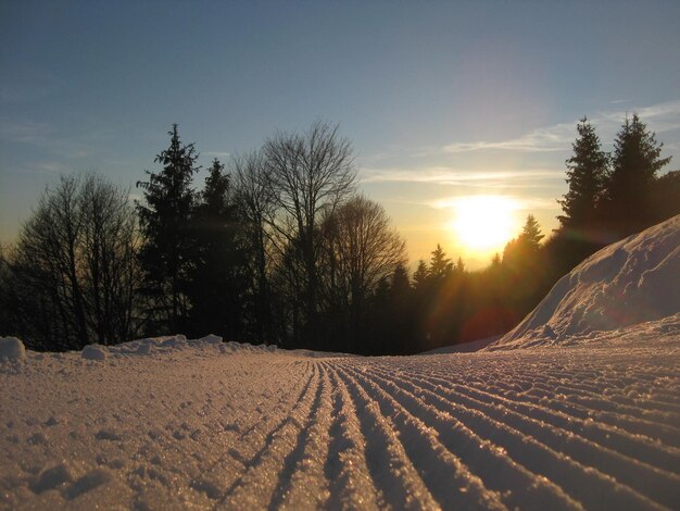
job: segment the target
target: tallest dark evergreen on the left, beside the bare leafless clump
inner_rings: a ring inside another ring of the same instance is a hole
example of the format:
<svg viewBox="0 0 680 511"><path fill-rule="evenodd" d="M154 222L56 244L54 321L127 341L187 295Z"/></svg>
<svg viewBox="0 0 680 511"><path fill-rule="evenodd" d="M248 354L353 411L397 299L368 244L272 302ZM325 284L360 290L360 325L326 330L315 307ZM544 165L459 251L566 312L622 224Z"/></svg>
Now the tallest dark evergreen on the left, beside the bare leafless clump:
<svg viewBox="0 0 680 511"><path fill-rule="evenodd" d="M191 183L200 167L193 144L180 142L177 124L168 135L169 147L154 159L163 169L158 174L146 171L149 180L137 183L144 196L137 209L150 326L176 333L186 327L190 309L187 292L194 261L191 214L196 201Z"/></svg>

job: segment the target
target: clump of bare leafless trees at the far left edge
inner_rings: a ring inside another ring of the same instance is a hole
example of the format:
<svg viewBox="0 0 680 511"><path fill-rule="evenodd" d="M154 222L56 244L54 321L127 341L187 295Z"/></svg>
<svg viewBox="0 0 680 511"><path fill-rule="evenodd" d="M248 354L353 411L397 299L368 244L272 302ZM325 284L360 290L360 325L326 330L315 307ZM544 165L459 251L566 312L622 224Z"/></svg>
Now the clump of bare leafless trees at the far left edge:
<svg viewBox="0 0 680 511"><path fill-rule="evenodd" d="M5 262L11 333L50 350L129 340L137 333L136 248L127 190L93 174L63 176Z"/></svg>

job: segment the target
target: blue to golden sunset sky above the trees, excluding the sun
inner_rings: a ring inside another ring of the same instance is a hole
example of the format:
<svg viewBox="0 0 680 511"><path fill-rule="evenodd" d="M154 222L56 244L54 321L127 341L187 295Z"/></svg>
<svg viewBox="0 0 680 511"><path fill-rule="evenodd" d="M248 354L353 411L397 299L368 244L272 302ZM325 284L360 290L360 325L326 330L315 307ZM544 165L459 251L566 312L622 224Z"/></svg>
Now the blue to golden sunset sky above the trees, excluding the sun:
<svg viewBox="0 0 680 511"><path fill-rule="evenodd" d="M680 169L679 28L670 0L4 0L0 242L61 174L138 196L173 123L206 167L320 119L412 261L439 242L480 267L498 247L461 240L456 204L502 197L511 235L529 213L549 234L583 115L610 150L638 112Z"/></svg>

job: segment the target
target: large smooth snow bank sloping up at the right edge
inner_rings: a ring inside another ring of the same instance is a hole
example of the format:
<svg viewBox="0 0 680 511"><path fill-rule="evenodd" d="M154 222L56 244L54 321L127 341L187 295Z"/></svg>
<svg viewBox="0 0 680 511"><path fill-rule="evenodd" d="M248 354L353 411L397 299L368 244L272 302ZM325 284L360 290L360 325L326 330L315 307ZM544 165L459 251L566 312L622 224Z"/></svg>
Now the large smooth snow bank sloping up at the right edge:
<svg viewBox="0 0 680 511"><path fill-rule="evenodd" d="M680 215L591 256L488 349L578 344L678 313Z"/></svg>

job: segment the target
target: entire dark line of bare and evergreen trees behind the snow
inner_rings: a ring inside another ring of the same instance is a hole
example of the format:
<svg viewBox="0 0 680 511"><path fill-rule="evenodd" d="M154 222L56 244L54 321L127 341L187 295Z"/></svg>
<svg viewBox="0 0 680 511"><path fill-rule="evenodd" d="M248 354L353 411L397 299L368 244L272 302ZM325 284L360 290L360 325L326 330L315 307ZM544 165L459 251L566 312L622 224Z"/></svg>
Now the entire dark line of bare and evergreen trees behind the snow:
<svg viewBox="0 0 680 511"><path fill-rule="evenodd" d="M559 228L532 215L481 271L438 245L413 274L383 208L357 194L338 126L280 132L215 159L197 190L198 152L169 145L137 183L96 174L42 194L0 254L0 325L34 349L79 349L140 336L215 333L230 340L405 354L498 335L605 245L680 213L680 172L638 115L612 154L577 126Z"/></svg>

